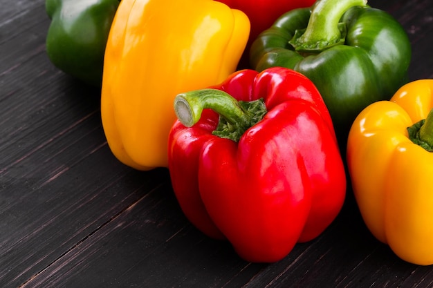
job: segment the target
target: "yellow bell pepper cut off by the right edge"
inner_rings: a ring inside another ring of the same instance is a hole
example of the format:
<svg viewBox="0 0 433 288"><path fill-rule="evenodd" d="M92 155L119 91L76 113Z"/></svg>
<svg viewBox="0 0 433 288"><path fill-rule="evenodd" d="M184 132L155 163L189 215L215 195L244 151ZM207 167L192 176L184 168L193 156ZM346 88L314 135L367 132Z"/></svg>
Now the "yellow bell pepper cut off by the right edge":
<svg viewBox="0 0 433 288"><path fill-rule="evenodd" d="M433 79L412 81L390 101L367 106L347 143L365 224L397 256L416 265L433 264L432 109Z"/></svg>

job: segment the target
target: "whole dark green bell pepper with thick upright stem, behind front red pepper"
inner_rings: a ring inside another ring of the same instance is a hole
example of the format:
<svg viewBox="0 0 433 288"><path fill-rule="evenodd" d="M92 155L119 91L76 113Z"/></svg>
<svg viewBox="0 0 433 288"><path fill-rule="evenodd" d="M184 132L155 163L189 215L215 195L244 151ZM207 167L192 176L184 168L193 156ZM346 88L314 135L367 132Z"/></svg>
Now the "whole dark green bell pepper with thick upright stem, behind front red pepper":
<svg viewBox="0 0 433 288"><path fill-rule="evenodd" d="M291 10L250 48L255 70L283 66L313 81L342 145L363 108L391 98L407 82L410 59L400 23L363 0L319 0Z"/></svg>

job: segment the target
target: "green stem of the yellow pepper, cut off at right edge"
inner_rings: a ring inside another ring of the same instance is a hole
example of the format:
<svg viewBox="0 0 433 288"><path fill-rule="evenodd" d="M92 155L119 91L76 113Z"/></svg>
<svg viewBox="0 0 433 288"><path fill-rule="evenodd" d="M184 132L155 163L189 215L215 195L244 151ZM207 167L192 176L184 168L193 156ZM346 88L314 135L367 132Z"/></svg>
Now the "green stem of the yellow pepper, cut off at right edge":
<svg viewBox="0 0 433 288"><path fill-rule="evenodd" d="M429 152L433 152L433 109L430 110L427 118L407 127L407 132L412 142Z"/></svg>

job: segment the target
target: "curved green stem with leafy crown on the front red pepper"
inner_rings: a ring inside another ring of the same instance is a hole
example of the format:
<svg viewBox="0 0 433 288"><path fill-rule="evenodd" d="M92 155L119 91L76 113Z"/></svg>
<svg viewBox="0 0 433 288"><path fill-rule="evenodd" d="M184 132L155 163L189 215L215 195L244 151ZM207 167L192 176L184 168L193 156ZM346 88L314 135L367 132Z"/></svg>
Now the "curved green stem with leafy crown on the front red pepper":
<svg viewBox="0 0 433 288"><path fill-rule="evenodd" d="M266 114L263 99L252 102L237 101L222 90L201 89L181 93L174 99L174 111L179 121L191 127L199 122L203 109L219 114L219 124L212 134L238 142L241 135Z"/></svg>

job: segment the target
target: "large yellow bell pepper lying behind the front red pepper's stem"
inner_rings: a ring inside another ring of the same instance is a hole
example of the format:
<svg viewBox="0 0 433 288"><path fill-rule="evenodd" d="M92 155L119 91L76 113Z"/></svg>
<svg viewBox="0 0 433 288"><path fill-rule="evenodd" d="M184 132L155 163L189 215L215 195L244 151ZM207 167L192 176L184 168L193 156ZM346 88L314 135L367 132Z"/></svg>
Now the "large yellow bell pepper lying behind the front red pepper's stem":
<svg viewBox="0 0 433 288"><path fill-rule="evenodd" d="M122 0L104 56L101 115L114 155L139 170L167 167L174 97L219 84L250 32L240 10L212 0Z"/></svg>

